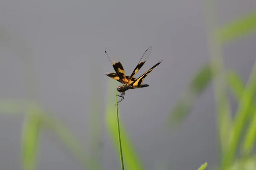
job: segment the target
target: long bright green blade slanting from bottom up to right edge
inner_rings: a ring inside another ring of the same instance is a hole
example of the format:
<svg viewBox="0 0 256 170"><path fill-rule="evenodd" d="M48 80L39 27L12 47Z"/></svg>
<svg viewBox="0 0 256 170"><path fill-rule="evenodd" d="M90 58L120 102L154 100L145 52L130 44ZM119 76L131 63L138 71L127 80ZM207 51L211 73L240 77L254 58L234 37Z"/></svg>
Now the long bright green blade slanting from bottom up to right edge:
<svg viewBox="0 0 256 170"><path fill-rule="evenodd" d="M230 167L233 163L238 142L241 137L241 131L244 128L245 121L247 117L247 113L250 111L251 103L253 102L253 97L256 91L256 62L253 65L252 72L250 74L250 78L247 82L247 85L244 89L244 92L241 96L241 100L239 102L238 110L233 121L233 128L230 132L230 146L228 151L224 154L222 160L222 168L226 169Z"/></svg>

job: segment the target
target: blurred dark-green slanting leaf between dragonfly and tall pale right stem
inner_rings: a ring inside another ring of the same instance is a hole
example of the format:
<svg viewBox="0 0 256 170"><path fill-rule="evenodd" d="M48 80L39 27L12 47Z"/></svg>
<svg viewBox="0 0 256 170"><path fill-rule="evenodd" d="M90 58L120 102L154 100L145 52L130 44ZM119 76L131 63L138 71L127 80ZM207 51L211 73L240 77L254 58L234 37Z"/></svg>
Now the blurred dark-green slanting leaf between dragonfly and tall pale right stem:
<svg viewBox="0 0 256 170"><path fill-rule="evenodd" d="M195 100L207 88L213 77L209 64L204 65L196 72L188 87L170 111L169 125L179 125L186 118Z"/></svg>

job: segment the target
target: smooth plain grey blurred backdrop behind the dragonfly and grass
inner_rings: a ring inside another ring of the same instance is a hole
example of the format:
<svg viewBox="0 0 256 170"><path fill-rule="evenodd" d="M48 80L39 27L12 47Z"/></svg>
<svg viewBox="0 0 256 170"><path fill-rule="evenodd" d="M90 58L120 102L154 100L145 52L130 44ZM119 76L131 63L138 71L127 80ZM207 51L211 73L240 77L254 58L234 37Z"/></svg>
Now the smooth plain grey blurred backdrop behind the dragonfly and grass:
<svg viewBox="0 0 256 170"><path fill-rule="evenodd" d="M220 25L256 7L255 0L217 3ZM253 34L224 46L225 65L237 69L244 80L256 58L255 44ZM163 62L145 78L148 88L129 90L119 105L120 119L143 164L147 170L165 159L172 170L195 170L205 161L217 164L211 86L174 133L161 126L195 71L209 61L203 0L2 0L0 97L35 99L87 143L92 89L97 89L97 107L104 111L109 81L115 81L105 76L114 71L105 47L115 52L126 74L131 74L149 46L153 47L151 55L135 77ZM111 84L113 89L119 85ZM101 114L102 165L105 170L117 170L119 155ZM1 170L21 169L22 124L23 116L0 115ZM41 139L39 160L39 170L83 169L47 133Z"/></svg>

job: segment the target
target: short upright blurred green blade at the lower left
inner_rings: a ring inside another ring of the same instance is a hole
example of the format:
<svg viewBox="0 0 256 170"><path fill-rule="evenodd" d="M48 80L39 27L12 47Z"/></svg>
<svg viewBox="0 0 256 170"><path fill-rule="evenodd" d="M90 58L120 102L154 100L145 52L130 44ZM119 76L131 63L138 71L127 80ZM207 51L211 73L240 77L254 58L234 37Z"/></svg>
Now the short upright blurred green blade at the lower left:
<svg viewBox="0 0 256 170"><path fill-rule="evenodd" d="M24 170L35 170L38 152L39 122L38 111L32 110L25 117L21 142L21 156Z"/></svg>

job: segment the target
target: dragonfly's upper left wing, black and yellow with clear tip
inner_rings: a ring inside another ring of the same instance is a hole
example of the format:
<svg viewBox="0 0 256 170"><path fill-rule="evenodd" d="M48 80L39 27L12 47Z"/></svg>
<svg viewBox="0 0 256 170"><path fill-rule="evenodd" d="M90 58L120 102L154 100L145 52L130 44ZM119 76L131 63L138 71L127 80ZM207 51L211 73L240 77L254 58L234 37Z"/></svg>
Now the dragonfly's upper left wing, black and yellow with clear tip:
<svg viewBox="0 0 256 170"><path fill-rule="evenodd" d="M107 52L108 51L108 52ZM111 62L111 64L113 65L113 68L114 70L116 71L116 75L120 78L119 79L119 82L125 84L128 79L126 78L125 76L125 70L121 64L121 62L119 62L119 60L114 56L113 52L111 50L109 50L107 47L105 48L105 53L109 59L109 61ZM111 54L111 55L108 55L108 54ZM108 75L107 75L108 76ZM110 77L110 76L109 76ZM116 79L117 78L114 78L114 77L111 77L113 79ZM118 80L117 80L118 81Z"/></svg>

